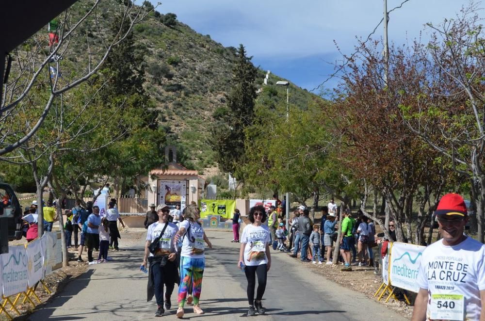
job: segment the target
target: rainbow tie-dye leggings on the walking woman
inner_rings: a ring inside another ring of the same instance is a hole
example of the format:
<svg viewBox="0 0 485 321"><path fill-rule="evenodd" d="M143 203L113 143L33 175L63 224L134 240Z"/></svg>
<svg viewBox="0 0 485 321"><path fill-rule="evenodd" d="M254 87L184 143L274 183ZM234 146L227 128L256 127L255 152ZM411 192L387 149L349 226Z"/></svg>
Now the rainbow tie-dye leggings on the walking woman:
<svg viewBox="0 0 485 321"><path fill-rule="evenodd" d="M199 303L202 289L202 274L206 266L205 257L180 257L180 285L178 286L178 305L184 306L187 293L192 290L194 305Z"/></svg>

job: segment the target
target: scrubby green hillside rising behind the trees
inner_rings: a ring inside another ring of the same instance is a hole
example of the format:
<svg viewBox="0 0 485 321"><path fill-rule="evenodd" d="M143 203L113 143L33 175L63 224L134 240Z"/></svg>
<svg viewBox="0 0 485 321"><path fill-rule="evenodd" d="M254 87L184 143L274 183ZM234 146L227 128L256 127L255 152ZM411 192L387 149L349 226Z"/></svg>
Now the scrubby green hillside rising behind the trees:
<svg viewBox="0 0 485 321"><path fill-rule="evenodd" d="M83 2L73 6L73 16L86 7ZM101 17L112 19L118 1L101 3ZM157 8L162 9L163 5ZM215 126L214 112L226 105L236 48L225 48L210 35L197 33L180 21L167 23L170 16L154 11L136 25L133 31L136 50L145 57L144 87L156 102L160 126L169 142L179 145L181 162L202 174L204 169L217 165L208 138L210 126ZM81 34L83 32L81 30ZM96 34L96 31L88 30L88 36L91 33ZM82 56L81 50L81 47L77 49L79 56ZM261 87L259 102L269 108L286 103L286 88L275 86L276 81L283 79L271 73L267 85L262 85L267 73L262 67L259 67L257 80ZM305 108L310 100L317 98L294 85L290 87L290 96L291 104L299 108Z"/></svg>

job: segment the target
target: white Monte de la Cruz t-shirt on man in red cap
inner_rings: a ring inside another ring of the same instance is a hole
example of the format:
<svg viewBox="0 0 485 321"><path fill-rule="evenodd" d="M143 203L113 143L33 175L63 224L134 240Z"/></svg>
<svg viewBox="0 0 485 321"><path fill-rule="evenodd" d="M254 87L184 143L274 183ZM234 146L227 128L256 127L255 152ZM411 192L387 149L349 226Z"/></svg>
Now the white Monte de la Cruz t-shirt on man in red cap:
<svg viewBox="0 0 485 321"><path fill-rule="evenodd" d="M459 313L462 303L462 319L436 315L434 319L480 320L480 291L485 290L484 256L485 245L470 237L454 246L443 245L440 240L423 251L416 284L428 291L426 320L433 313Z"/></svg>

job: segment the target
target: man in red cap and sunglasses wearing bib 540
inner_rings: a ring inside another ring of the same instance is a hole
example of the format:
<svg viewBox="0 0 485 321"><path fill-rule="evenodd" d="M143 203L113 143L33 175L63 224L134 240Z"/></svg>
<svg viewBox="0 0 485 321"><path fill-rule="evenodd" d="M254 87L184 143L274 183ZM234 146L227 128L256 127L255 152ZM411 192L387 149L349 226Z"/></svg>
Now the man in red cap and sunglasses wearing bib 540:
<svg viewBox="0 0 485 321"><path fill-rule="evenodd" d="M463 234L465 201L446 194L435 214L442 239L423 251L411 320L485 321L485 245Z"/></svg>

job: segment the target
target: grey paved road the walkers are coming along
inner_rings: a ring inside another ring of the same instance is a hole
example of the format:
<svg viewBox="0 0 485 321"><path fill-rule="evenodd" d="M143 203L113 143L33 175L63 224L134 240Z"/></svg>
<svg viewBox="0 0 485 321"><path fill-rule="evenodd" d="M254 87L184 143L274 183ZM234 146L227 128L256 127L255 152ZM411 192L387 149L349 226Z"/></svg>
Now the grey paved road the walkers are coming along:
<svg viewBox="0 0 485 321"><path fill-rule="evenodd" d="M208 234L214 248L207 251L202 284L200 305L206 314L197 316L186 306L185 318L226 321L246 317L246 278L236 265L239 244L229 242L232 234L228 232ZM91 265L28 320L157 319L155 302L146 302L146 274L139 271L142 246L140 241L138 247L114 253L113 262ZM174 293L174 307L176 300ZM305 270L300 262L282 252L274 252L263 305L267 315L257 316L260 321L405 320L384 305ZM175 309L167 311L163 318L175 319Z"/></svg>

